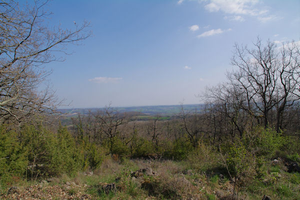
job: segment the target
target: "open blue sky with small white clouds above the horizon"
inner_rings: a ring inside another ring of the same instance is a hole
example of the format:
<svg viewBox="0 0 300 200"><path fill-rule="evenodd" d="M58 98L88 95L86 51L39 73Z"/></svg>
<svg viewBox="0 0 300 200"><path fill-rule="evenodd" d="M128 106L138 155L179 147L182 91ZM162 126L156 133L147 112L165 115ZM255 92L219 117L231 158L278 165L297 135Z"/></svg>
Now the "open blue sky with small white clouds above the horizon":
<svg viewBox="0 0 300 200"><path fill-rule="evenodd" d="M92 37L46 65L69 108L200 103L196 95L232 69L234 43L300 39L296 0L53 0L46 9L50 26L91 24Z"/></svg>

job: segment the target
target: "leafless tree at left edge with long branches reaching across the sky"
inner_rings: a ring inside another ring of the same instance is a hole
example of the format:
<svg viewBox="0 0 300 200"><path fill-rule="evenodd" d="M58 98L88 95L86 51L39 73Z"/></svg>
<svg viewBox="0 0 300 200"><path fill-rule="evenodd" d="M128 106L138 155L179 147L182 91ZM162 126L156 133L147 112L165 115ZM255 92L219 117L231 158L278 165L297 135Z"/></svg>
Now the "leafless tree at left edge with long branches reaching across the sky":
<svg viewBox="0 0 300 200"><path fill-rule="evenodd" d="M0 122L32 120L36 113L55 109L53 92L38 86L49 75L43 65L61 61L53 52L64 52L67 44L78 44L90 36L88 23L74 23L74 30L48 28L47 1L33 6L13 0L0 3Z"/></svg>

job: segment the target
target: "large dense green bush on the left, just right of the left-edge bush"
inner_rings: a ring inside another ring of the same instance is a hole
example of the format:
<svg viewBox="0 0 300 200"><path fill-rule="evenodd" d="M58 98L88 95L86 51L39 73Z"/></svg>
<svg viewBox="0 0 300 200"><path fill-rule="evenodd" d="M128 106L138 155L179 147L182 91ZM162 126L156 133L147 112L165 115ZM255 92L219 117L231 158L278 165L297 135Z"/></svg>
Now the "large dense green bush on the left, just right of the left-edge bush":
<svg viewBox="0 0 300 200"><path fill-rule="evenodd" d="M53 133L42 126L24 125L20 142L28 150L27 178L70 174L82 166L80 152L65 127Z"/></svg>

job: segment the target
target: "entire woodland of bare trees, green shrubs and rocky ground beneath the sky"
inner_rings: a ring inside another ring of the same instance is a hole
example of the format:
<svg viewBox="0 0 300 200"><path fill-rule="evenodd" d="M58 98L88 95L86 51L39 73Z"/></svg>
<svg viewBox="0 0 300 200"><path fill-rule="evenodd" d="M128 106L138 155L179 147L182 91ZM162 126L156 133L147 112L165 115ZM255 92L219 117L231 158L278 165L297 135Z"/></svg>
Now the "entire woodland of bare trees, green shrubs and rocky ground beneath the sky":
<svg viewBox="0 0 300 200"><path fill-rule="evenodd" d="M299 43L235 44L226 81L168 117L107 105L62 121L42 66L91 33L47 28L42 7L0 4L1 199L300 198Z"/></svg>

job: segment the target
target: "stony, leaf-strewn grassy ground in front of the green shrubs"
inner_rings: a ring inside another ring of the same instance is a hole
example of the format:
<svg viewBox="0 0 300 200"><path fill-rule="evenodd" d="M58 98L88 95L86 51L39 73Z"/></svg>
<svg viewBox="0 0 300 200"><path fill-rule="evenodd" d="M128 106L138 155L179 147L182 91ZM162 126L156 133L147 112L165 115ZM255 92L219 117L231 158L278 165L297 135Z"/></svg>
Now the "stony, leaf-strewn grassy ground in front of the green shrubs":
<svg viewBox="0 0 300 200"><path fill-rule="evenodd" d="M257 182L239 188L238 199L299 197L299 173L288 172L289 168L280 165L277 159L271 161L270 166L269 173L260 181L261 185ZM288 188L285 186L287 183ZM201 173L170 160L127 160L125 163L108 160L94 171L27 184L2 190L0 199L226 200L232 199L233 193L233 183L226 174Z"/></svg>

